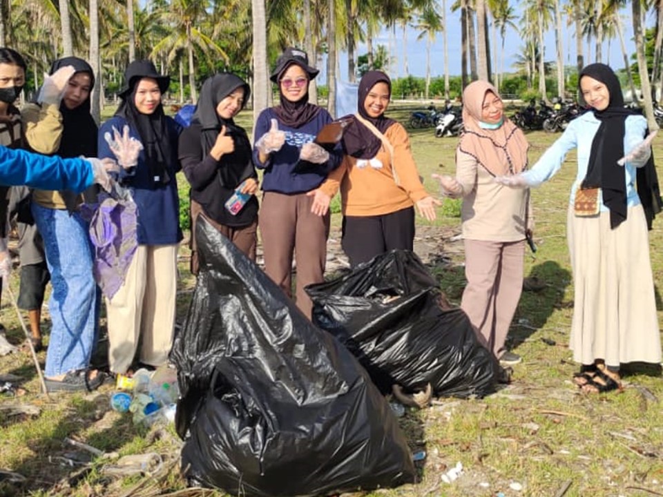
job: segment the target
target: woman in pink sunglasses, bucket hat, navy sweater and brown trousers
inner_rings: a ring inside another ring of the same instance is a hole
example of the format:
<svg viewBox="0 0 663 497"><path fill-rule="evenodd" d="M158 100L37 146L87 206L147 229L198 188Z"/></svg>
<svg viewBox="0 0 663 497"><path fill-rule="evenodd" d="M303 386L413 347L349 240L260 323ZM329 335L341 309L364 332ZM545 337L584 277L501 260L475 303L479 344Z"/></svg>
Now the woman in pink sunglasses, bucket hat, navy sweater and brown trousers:
<svg viewBox="0 0 663 497"><path fill-rule="evenodd" d="M262 179L260 233L265 272L291 295L293 253L297 257L296 302L309 318L307 284L323 281L329 235L329 213L311 213L307 192L318 188L340 164L340 146L323 148L316 135L332 121L327 110L309 104L309 81L318 70L309 66L306 52L287 48L276 61L271 81L278 84L280 104L267 108L256 121L253 158L265 169Z"/></svg>

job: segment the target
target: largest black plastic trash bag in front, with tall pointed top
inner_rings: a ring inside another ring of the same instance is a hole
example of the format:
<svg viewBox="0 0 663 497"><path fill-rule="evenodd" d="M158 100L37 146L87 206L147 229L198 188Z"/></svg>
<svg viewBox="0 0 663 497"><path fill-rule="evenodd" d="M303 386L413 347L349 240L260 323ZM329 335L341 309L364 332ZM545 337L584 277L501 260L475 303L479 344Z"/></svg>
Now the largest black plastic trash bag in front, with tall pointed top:
<svg viewBox="0 0 663 497"><path fill-rule="evenodd" d="M392 411L354 356L204 220L171 360L191 485L300 496L414 481Z"/></svg>

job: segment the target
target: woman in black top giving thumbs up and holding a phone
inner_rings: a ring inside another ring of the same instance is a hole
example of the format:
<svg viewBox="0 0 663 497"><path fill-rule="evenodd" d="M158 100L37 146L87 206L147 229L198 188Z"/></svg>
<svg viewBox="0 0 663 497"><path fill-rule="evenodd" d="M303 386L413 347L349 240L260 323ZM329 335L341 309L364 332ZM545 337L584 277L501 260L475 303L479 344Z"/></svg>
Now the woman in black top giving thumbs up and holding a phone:
<svg viewBox="0 0 663 497"><path fill-rule="evenodd" d="M235 117L249 99L249 85L229 72L202 84L191 126L180 135L180 164L191 184L191 273L198 274L195 223L199 215L256 260L258 175L251 142ZM251 195L238 212L226 208L236 189Z"/></svg>

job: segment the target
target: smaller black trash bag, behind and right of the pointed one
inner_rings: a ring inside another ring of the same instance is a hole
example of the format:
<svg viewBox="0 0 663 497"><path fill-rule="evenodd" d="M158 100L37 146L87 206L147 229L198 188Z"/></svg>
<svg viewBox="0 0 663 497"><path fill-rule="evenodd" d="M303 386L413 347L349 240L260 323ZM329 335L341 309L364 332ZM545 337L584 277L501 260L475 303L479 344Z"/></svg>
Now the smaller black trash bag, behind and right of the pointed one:
<svg viewBox="0 0 663 497"><path fill-rule="evenodd" d="M381 391L430 383L436 396L494 392L497 361L461 309L443 309L435 278L411 251L378 255L306 291L313 322L359 359Z"/></svg>

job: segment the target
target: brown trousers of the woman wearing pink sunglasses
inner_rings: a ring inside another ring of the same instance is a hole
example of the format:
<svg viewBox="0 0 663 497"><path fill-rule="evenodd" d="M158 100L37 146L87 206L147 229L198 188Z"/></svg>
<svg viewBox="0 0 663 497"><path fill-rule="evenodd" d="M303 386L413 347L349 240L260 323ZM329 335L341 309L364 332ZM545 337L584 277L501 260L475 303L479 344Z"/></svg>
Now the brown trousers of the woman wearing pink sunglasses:
<svg viewBox="0 0 663 497"><path fill-rule="evenodd" d="M324 281L329 213L311 213L313 197L265 192L260 206L260 234L265 273L291 297L293 252L297 260L296 303L311 318L313 303L304 287Z"/></svg>

